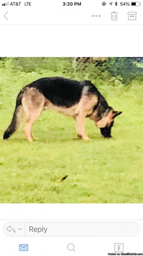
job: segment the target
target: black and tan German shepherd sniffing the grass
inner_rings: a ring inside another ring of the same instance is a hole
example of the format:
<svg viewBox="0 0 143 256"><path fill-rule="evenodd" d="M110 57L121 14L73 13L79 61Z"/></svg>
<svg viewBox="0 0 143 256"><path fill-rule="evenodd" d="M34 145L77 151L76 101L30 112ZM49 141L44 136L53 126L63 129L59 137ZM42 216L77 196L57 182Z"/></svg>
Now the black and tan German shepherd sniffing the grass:
<svg viewBox="0 0 143 256"><path fill-rule="evenodd" d="M91 81L74 81L62 77L41 78L21 89L11 124L3 139L8 139L16 131L24 112L27 117L24 133L27 140L32 141L32 125L46 109L72 116L78 136L84 140L89 140L84 128L86 117L94 121L104 138L110 138L114 118L122 113L114 111L107 104Z"/></svg>

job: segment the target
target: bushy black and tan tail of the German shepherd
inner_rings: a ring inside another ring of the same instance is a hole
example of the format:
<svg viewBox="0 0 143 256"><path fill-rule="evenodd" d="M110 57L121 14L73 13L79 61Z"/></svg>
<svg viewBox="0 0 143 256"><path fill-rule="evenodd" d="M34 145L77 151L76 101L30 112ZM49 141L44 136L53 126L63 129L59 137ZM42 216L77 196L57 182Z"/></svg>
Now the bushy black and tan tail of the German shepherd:
<svg viewBox="0 0 143 256"><path fill-rule="evenodd" d="M17 130L20 124L20 117L21 117L21 110L22 110L22 105L21 105L22 96L23 95L21 92L17 96L16 107L13 113L13 118L10 126L6 129L6 131L3 134L3 140L9 139L10 136Z"/></svg>

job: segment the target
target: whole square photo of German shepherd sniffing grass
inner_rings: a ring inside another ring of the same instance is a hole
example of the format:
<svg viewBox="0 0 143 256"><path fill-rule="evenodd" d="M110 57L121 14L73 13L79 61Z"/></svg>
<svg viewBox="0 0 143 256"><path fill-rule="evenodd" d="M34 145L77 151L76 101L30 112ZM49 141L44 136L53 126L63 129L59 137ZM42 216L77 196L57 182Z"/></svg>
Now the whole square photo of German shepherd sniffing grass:
<svg viewBox="0 0 143 256"><path fill-rule="evenodd" d="M143 203L142 131L142 57L0 58L0 203Z"/></svg>

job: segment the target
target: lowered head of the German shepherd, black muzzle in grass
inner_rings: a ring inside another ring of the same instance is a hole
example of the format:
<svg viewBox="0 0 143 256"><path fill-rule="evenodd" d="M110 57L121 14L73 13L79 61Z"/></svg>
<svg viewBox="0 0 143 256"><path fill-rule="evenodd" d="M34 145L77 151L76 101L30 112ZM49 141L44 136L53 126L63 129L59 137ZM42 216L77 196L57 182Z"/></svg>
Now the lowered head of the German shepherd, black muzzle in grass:
<svg viewBox="0 0 143 256"><path fill-rule="evenodd" d="M119 116L122 114L121 111L114 111L111 109L109 112L105 111L104 115L102 116L102 119L96 122L96 125L100 128L101 134L104 138L111 138L111 128L114 124L114 119L116 116Z"/></svg>

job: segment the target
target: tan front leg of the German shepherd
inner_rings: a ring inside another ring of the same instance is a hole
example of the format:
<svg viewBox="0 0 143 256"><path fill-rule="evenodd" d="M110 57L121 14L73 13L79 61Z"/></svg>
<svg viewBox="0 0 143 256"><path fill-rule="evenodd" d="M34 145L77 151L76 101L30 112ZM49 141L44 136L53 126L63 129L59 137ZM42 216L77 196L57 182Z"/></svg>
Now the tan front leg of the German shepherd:
<svg viewBox="0 0 143 256"><path fill-rule="evenodd" d="M78 136L81 137L83 140L89 140L88 136L85 133L84 123L85 123L85 116L79 114L75 117L76 122L76 130L78 132Z"/></svg>

